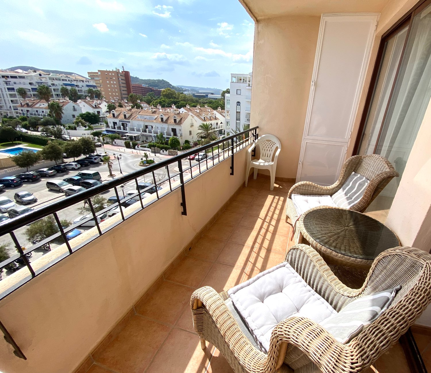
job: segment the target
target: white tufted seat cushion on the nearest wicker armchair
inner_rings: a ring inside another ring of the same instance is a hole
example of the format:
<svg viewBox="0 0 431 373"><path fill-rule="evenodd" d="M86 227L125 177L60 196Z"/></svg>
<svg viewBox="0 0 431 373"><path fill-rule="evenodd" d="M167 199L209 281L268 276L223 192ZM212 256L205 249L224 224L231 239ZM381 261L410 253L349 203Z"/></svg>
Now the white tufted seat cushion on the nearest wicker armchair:
<svg viewBox="0 0 431 373"><path fill-rule="evenodd" d="M228 291L259 348L267 353L274 327L290 316L321 323L337 312L287 262Z"/></svg>

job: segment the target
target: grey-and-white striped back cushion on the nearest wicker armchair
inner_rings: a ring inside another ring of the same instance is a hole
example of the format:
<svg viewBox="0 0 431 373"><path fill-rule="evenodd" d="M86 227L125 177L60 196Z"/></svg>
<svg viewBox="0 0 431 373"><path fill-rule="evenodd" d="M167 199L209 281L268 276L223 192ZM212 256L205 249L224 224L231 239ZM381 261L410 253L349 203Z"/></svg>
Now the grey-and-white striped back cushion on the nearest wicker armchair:
<svg viewBox="0 0 431 373"><path fill-rule="evenodd" d="M356 299L338 314L322 321L321 325L338 342L348 343L375 321L393 301L400 286Z"/></svg>

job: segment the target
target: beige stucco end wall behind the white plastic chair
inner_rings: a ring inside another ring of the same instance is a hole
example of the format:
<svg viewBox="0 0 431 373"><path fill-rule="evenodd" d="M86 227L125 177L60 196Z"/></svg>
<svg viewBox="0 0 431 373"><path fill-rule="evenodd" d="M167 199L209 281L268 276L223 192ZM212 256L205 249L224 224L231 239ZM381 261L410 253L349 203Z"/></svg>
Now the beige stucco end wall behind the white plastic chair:
<svg viewBox="0 0 431 373"><path fill-rule="evenodd" d="M296 178L320 17L287 16L256 23L252 126L281 141L277 176Z"/></svg>

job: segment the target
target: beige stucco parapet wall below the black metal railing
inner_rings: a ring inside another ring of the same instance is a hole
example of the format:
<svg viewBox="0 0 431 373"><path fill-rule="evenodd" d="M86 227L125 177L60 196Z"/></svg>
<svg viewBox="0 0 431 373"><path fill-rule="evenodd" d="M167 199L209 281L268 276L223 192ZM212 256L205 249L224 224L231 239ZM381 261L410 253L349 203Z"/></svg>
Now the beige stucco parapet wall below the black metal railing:
<svg viewBox="0 0 431 373"><path fill-rule="evenodd" d="M0 371L77 367L242 185L245 154L235 154L234 176L226 160L186 184L187 216L177 189L0 301L0 320L28 358L0 338Z"/></svg>

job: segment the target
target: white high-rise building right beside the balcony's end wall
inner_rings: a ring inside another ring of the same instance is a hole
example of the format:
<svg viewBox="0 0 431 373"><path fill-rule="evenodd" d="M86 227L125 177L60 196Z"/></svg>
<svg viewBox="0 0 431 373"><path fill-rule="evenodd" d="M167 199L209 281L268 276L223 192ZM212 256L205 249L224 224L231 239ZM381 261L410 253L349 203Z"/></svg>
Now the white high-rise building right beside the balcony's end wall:
<svg viewBox="0 0 431 373"><path fill-rule="evenodd" d="M251 110L251 72L231 74L231 93L225 95L226 136L250 126Z"/></svg>

